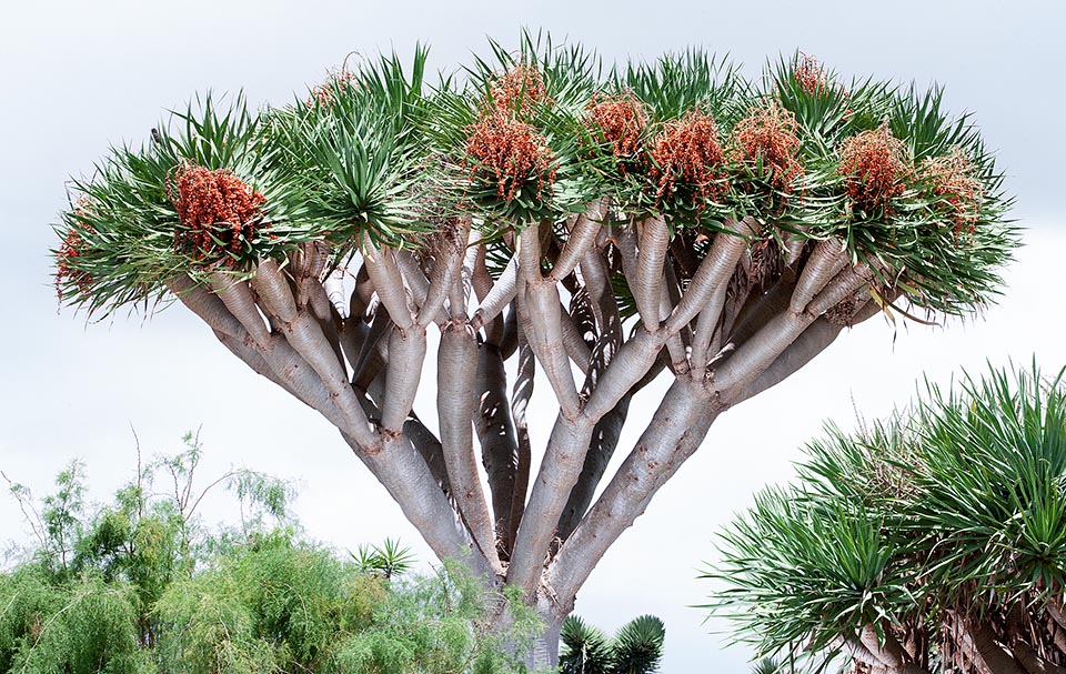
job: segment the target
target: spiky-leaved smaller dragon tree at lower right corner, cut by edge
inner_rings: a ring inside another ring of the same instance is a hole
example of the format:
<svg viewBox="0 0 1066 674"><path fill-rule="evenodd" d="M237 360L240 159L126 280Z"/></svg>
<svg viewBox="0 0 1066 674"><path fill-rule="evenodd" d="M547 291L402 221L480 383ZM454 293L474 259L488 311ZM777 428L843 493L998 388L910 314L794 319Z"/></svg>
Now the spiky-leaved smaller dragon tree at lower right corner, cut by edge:
<svg viewBox="0 0 1066 674"><path fill-rule="evenodd" d="M722 534L713 606L738 641L854 672L1064 671L1063 372L929 385L807 454Z"/></svg>

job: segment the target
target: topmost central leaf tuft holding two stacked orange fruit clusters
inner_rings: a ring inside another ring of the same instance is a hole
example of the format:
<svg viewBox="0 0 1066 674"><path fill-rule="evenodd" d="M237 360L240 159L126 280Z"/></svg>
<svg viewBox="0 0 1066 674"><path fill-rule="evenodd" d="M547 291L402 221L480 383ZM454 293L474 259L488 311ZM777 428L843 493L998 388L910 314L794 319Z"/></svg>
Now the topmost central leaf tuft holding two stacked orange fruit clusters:
<svg viewBox="0 0 1066 674"><path fill-rule="evenodd" d="M603 185L581 113L592 95L597 60L580 47L523 33L517 53L492 42L465 83L442 82L429 133L444 158L441 191L486 232L557 222L584 212Z"/></svg>

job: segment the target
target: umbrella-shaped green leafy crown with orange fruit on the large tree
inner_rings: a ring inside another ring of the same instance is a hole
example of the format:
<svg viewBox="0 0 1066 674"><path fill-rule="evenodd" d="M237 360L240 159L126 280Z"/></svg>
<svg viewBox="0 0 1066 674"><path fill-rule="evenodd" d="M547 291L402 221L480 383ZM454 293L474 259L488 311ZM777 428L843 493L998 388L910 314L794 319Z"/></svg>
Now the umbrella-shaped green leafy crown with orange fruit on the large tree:
<svg viewBox="0 0 1066 674"><path fill-rule="evenodd" d="M56 228L61 298L109 312L179 273L248 276L311 242L334 264L368 240L421 250L461 220L513 247L601 199L690 232L697 260L725 219L768 223L774 250L839 238L882 295L947 313L987 301L1016 244L994 158L939 88L800 53L756 80L701 50L604 69L529 33L433 84L425 59L345 66L258 111L208 94L113 148Z"/></svg>

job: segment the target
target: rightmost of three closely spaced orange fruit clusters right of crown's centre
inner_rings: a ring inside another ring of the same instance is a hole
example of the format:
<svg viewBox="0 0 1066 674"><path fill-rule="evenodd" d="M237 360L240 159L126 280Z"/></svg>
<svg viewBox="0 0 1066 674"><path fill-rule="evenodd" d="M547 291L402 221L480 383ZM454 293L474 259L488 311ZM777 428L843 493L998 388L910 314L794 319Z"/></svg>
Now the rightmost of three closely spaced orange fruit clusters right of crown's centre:
<svg viewBox="0 0 1066 674"><path fill-rule="evenodd" d="M804 175L803 164L796 159L796 117L776 102L752 108L733 129L732 159L750 165L761 160L771 184L787 191Z"/></svg>

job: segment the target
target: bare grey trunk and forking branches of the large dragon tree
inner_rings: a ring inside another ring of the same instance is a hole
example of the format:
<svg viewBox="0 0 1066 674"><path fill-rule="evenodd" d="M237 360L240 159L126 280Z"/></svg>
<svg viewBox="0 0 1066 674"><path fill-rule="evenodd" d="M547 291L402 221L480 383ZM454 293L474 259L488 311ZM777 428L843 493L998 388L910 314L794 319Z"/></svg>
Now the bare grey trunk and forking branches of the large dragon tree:
<svg viewBox="0 0 1066 674"><path fill-rule="evenodd" d="M484 243L473 243L473 254L445 247L416 256L368 242L348 319L331 313L321 272L300 264L292 275L264 260L247 284L215 279L203 289L179 276L171 288L233 353L341 431L436 555L463 560L492 592L519 589L543 621L527 664L553 667L577 591L717 414L828 346L841 329L827 311L845 301L862 306L871 270L842 261L838 242L797 263L795 279L776 294L731 293L746 273L757 227L726 227L732 232L714 237L688 279L677 276L670 228L657 219L606 232L591 221L575 224L547 275L542 269L553 252L542 239L552 232L529 228L512 241L515 254L495 280ZM632 331L613 286L619 272L640 314ZM560 284L573 299L570 310L560 303ZM470 293L481 302L473 318ZM853 312L846 322L865 318ZM442 331L439 440L412 409L433 326ZM515 352L519 376L509 398L505 364ZM580 389L574 364L584 375ZM665 366L673 385L593 503L632 396ZM525 419L534 371L559 406L535 477ZM494 620L501 634L513 625L505 605ZM515 654L520 647L513 644Z"/></svg>

